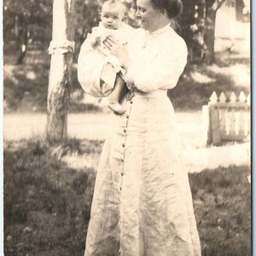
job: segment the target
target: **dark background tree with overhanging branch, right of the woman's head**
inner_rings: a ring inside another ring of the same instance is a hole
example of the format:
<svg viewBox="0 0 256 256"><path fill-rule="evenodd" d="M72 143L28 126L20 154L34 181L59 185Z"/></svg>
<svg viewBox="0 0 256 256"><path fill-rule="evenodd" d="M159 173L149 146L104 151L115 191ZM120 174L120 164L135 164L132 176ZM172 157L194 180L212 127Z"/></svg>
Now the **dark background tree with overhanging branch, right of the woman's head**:
<svg viewBox="0 0 256 256"><path fill-rule="evenodd" d="M214 61L215 21L223 4L236 8L237 20L245 20L244 0L190 0L183 2L180 23L182 36L189 46L189 60L212 63Z"/></svg>

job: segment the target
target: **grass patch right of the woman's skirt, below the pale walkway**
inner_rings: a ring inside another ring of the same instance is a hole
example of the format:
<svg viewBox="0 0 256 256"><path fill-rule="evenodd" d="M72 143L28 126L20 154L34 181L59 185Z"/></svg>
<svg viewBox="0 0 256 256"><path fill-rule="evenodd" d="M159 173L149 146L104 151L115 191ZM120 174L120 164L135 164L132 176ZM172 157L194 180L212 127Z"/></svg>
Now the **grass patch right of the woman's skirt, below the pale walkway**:
<svg viewBox="0 0 256 256"><path fill-rule="evenodd" d="M249 166L190 173L202 255L251 255Z"/></svg>

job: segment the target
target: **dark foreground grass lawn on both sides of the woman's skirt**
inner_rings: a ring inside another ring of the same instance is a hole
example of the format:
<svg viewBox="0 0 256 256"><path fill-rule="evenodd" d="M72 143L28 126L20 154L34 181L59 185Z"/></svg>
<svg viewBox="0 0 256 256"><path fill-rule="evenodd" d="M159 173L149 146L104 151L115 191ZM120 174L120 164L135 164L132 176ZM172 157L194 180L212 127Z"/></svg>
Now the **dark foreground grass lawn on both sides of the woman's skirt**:
<svg viewBox="0 0 256 256"><path fill-rule="evenodd" d="M83 255L96 171L71 168L67 155L99 155L102 141L5 142L5 255ZM251 255L249 166L189 174L204 256Z"/></svg>

